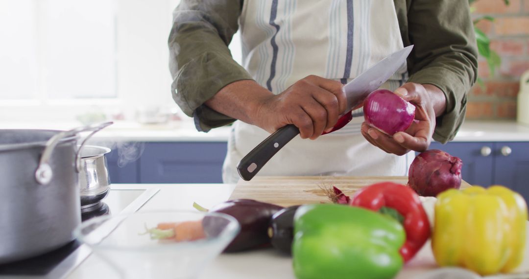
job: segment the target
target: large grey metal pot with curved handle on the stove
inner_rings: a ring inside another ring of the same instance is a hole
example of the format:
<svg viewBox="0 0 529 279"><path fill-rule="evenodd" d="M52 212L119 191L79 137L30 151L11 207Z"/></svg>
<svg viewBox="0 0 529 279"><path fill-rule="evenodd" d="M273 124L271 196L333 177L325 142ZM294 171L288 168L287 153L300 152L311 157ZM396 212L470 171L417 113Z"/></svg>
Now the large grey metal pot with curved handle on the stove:
<svg viewBox="0 0 529 279"><path fill-rule="evenodd" d="M90 137L110 124L70 131L0 130L0 264L73 239L81 220L78 134L93 131Z"/></svg>

